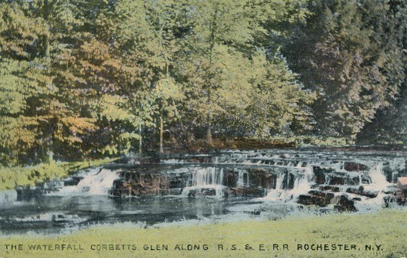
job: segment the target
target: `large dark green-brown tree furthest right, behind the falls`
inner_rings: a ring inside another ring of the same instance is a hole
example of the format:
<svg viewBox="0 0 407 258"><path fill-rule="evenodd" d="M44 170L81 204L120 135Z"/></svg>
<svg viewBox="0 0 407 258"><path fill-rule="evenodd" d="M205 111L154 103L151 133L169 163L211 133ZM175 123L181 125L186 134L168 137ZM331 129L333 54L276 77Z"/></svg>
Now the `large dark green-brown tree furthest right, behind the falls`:
<svg viewBox="0 0 407 258"><path fill-rule="evenodd" d="M353 139L386 108L404 80L397 21L388 2L310 1L313 13L284 53L318 95L320 134Z"/></svg>

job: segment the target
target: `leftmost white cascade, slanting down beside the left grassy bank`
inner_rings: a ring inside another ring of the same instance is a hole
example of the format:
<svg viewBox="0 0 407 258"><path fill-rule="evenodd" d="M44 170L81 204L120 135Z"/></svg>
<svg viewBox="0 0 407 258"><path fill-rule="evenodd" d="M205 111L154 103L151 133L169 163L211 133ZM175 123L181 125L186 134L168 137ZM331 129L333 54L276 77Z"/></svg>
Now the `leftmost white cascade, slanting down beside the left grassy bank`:
<svg viewBox="0 0 407 258"><path fill-rule="evenodd" d="M81 196L81 195L108 195L114 180L119 178L119 171L101 169L85 175L76 186L64 186L57 192L47 195L55 196Z"/></svg>

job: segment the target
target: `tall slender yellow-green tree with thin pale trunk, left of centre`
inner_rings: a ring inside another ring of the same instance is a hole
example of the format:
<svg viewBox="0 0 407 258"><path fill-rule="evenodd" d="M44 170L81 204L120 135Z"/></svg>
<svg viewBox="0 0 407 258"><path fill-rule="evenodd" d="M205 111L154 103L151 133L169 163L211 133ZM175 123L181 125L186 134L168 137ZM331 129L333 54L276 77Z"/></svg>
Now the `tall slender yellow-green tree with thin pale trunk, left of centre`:
<svg viewBox="0 0 407 258"><path fill-rule="evenodd" d="M177 117L174 113L183 99L174 73L186 48L183 37L192 22L188 19L191 7L187 3L163 0L119 1L114 16L123 17L125 22L117 23L116 19L112 23L122 32L120 40L127 42L126 47L132 52L130 56L137 56L144 69L151 71L144 81L144 90L155 96L151 111L159 124L160 152L164 151L165 120Z"/></svg>

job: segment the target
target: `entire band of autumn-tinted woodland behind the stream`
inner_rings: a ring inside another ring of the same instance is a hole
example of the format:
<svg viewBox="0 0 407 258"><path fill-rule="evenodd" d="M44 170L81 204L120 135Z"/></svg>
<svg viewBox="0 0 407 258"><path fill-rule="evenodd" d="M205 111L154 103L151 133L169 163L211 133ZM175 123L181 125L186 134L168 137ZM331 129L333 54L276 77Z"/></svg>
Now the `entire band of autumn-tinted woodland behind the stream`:
<svg viewBox="0 0 407 258"><path fill-rule="evenodd" d="M0 164L403 144L406 46L406 0L0 0Z"/></svg>

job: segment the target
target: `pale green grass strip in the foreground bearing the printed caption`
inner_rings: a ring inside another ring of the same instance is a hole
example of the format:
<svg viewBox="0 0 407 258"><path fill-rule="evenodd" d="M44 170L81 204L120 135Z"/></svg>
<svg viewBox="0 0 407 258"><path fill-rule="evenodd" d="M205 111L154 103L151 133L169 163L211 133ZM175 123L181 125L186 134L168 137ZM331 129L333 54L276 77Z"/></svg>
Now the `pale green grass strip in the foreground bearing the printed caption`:
<svg viewBox="0 0 407 258"><path fill-rule="evenodd" d="M405 211L386 210L368 215L336 214L147 229L115 225L52 237L1 237L0 254L10 257L404 257L407 255L406 217ZM5 245L11 244L20 244L21 250L6 250ZM48 250L49 246L29 250L29 245L51 245L55 249L55 245L61 248L62 244L64 248L71 245L74 249L75 245L83 250ZM188 249L188 244L199 245L199 250L183 250ZM283 250L284 244L288 250ZM302 250L298 250L299 244ZM313 249L321 244L323 250L311 250L312 244L315 244ZM218 245L223 245L223 250ZM332 250L333 245L336 250ZM371 250L366 250L366 245ZM157 250L166 246L168 250ZM253 250L248 250L249 246ZM326 247L329 250L324 250Z"/></svg>

